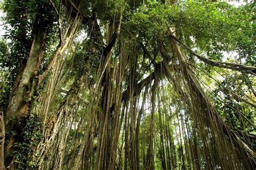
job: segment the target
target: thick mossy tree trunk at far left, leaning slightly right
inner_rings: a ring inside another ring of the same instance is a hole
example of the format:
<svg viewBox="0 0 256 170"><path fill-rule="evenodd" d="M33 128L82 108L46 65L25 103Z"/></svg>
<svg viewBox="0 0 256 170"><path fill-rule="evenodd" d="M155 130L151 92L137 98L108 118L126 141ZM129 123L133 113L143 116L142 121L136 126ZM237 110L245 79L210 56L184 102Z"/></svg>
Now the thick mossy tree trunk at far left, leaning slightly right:
<svg viewBox="0 0 256 170"><path fill-rule="evenodd" d="M25 127L25 120L29 115L33 101L33 89L35 86L33 78L36 76L37 70L42 63L45 39L48 35L48 26L51 25L51 23L45 21L43 13L38 14L35 21L36 23L33 31L35 33L28 60L23 71L21 71L21 74L18 75L15 80L16 86L12 89L8 107L5 111L5 131L9 134L6 135L6 141L8 141L5 152L5 160L7 160L6 165L13 162L10 157L13 150L13 144L23 139L21 132ZM19 127L17 127L17 124ZM11 132L16 132L17 134L11 135ZM14 166L10 165L9 168L14 168Z"/></svg>

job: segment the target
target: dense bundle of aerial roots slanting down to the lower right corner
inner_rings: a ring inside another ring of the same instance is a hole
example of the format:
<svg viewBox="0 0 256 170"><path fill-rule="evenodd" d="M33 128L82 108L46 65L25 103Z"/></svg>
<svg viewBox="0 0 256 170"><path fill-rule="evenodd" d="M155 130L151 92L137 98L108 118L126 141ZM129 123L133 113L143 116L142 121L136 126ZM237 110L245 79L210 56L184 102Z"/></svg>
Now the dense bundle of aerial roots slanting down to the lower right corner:
<svg viewBox="0 0 256 170"><path fill-rule="evenodd" d="M193 120L199 121L197 127L199 137L204 141L205 149L203 153L205 153L205 159L208 162L206 166L209 168L214 165L219 165L223 168L253 167L255 153L219 117L201 88L197 77L186 64L184 53L172 39L170 40L170 46L174 59L178 60L179 65L174 65L176 69L172 69L172 67L165 64L166 76L176 87L181 99L189 106ZM172 72L173 74L171 74ZM182 83L178 84L178 80ZM208 151L211 148L211 145L208 144L209 139L211 139L213 151ZM213 153L208 154L208 152ZM212 160L216 163L211 163Z"/></svg>

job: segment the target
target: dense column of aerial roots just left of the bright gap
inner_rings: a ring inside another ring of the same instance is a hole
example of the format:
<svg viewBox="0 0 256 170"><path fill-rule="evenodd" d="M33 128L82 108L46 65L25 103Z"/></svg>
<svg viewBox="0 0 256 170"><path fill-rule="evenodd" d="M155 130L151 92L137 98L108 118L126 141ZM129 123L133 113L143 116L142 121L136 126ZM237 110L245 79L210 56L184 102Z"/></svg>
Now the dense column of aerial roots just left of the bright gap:
<svg viewBox="0 0 256 170"><path fill-rule="evenodd" d="M76 133L83 135L75 138L74 160L68 165L74 169L116 169L118 137L122 125L121 87L127 63L127 52L123 41L117 50L120 55L112 58L111 53L102 57L96 84L90 92L90 99L79 122ZM113 52L114 53L114 52ZM121 119L121 120L120 120Z"/></svg>

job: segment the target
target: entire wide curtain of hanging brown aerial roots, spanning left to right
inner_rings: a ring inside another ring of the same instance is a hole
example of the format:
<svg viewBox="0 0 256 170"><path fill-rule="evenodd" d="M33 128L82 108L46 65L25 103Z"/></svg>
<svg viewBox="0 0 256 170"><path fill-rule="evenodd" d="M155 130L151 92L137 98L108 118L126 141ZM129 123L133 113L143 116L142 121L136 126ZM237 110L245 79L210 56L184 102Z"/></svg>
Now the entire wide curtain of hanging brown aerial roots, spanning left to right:
<svg viewBox="0 0 256 170"><path fill-rule="evenodd" d="M72 22L76 25L79 20ZM72 37L78 28L69 29L74 32L68 31L66 37ZM65 81L64 61L58 60L46 89L50 93L42 96L38 111L44 113L46 124L44 141L35 154L39 167L252 167L252 152L218 117L180 47L171 38L167 44L172 60L160 51L163 62L138 86L138 46L120 38L116 50L102 55L95 83L89 83L87 74L80 74L53 108L50 106ZM59 56L64 54L62 51ZM161 80L164 76L167 80ZM80 99L82 92L88 96L86 103Z"/></svg>

